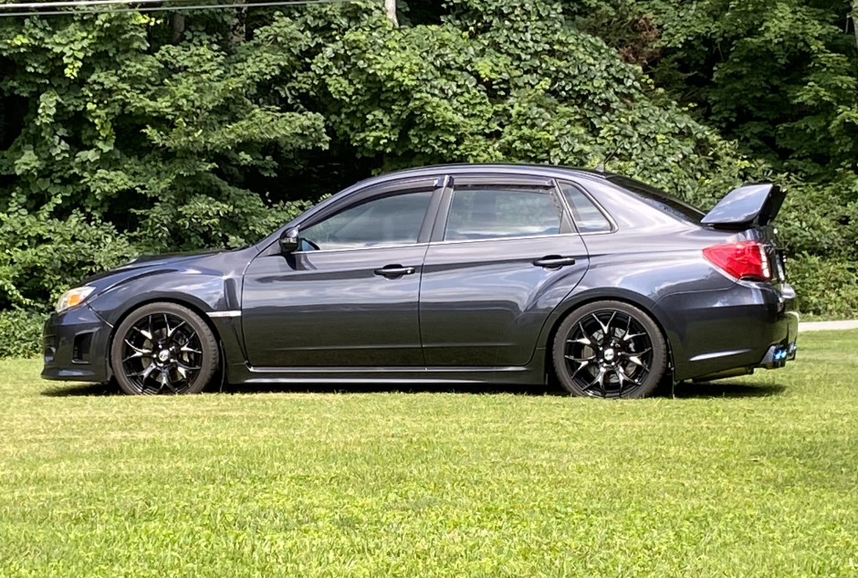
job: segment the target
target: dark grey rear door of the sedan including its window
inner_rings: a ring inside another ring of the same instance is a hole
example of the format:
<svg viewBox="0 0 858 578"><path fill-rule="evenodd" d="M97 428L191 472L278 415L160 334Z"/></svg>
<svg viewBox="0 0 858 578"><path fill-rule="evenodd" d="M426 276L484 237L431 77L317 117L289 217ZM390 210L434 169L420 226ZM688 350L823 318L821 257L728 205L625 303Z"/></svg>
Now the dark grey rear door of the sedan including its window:
<svg viewBox="0 0 858 578"><path fill-rule="evenodd" d="M426 364L526 365L549 313L587 270L586 247L550 179L449 183L420 289Z"/></svg>

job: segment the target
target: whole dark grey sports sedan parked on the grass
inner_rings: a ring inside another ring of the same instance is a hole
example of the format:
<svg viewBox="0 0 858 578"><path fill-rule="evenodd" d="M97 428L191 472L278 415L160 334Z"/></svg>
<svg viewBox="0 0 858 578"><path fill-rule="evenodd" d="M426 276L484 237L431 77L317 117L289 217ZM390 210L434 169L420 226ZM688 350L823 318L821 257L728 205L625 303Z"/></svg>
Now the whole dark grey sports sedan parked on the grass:
<svg viewBox="0 0 858 578"><path fill-rule="evenodd" d="M798 316L750 184L706 215L632 179L446 165L355 184L256 245L138 258L59 300L54 380L544 384L643 397L782 367Z"/></svg>

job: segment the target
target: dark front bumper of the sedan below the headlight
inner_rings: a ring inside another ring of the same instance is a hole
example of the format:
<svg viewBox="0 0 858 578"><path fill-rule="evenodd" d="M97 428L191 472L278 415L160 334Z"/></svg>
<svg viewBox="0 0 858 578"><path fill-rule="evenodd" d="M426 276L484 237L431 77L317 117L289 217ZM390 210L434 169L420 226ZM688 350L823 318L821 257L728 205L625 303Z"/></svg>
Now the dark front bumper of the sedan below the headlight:
<svg viewBox="0 0 858 578"><path fill-rule="evenodd" d="M110 381L110 325L84 304L54 313L43 332L42 378L72 382Z"/></svg>

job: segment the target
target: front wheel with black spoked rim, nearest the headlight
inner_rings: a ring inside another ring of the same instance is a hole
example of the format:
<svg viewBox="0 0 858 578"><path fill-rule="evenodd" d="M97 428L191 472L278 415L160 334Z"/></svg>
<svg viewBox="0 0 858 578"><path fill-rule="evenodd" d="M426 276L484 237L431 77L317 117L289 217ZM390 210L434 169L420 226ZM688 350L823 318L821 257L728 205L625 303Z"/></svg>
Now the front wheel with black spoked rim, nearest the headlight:
<svg viewBox="0 0 858 578"><path fill-rule="evenodd" d="M176 303L150 303L132 311L110 344L116 381L130 395L199 394L219 357L209 326Z"/></svg>

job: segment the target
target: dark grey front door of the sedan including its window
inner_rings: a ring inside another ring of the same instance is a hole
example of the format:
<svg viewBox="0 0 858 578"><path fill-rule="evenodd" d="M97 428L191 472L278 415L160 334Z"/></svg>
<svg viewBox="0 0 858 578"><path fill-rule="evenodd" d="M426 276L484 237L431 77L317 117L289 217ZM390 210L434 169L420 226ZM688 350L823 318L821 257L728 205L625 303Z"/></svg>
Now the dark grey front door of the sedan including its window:
<svg viewBox="0 0 858 578"><path fill-rule="evenodd" d="M251 365L424 366L417 303L440 194L434 179L386 184L302 224L301 250L256 257L242 301Z"/></svg>

